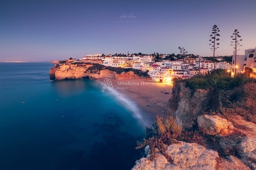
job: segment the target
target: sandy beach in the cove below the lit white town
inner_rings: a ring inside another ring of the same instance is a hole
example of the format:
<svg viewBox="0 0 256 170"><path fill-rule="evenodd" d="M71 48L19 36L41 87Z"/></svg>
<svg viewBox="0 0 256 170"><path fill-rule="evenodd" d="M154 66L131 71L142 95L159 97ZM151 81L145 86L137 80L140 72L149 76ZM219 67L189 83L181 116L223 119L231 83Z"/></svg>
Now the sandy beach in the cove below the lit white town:
<svg viewBox="0 0 256 170"><path fill-rule="evenodd" d="M159 83L145 79L123 79L115 80L109 78L112 82L113 89L129 96L135 101L142 110L153 115L165 117L168 100L172 96L172 84ZM97 79L104 82L104 79ZM167 90L170 94L164 94L162 91Z"/></svg>

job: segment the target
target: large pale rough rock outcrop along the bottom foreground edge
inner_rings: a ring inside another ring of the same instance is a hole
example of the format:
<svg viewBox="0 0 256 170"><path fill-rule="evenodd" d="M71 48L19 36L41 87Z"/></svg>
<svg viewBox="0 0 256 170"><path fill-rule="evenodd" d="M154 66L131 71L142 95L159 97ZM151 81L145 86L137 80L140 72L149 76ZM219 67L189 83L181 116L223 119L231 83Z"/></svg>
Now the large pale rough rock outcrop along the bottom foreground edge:
<svg viewBox="0 0 256 170"><path fill-rule="evenodd" d="M153 160L149 160L147 147L145 151L147 158L137 160L132 170L211 170L216 168L216 158L219 157L216 151L206 149L204 146L195 143L182 141L167 146L166 154L172 158L173 164L168 162L164 155L159 152L156 153Z"/></svg>

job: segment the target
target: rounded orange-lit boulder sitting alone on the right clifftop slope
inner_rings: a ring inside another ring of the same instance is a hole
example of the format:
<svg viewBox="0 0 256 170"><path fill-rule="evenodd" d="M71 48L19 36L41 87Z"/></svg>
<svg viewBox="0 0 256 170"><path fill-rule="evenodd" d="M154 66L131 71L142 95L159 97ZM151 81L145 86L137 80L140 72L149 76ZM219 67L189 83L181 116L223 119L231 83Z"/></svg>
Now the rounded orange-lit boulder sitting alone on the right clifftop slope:
<svg viewBox="0 0 256 170"><path fill-rule="evenodd" d="M208 135L228 134L234 126L227 119L219 116L202 115L197 117L197 124L201 131Z"/></svg>

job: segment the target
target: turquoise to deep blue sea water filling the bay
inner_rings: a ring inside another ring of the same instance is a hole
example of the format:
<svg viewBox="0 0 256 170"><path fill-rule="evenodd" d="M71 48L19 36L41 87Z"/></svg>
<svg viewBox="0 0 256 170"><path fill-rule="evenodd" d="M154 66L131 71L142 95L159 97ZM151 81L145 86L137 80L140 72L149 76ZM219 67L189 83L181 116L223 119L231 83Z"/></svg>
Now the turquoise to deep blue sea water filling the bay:
<svg viewBox="0 0 256 170"><path fill-rule="evenodd" d="M97 81L51 81L53 66L0 63L0 169L131 169L140 116Z"/></svg>

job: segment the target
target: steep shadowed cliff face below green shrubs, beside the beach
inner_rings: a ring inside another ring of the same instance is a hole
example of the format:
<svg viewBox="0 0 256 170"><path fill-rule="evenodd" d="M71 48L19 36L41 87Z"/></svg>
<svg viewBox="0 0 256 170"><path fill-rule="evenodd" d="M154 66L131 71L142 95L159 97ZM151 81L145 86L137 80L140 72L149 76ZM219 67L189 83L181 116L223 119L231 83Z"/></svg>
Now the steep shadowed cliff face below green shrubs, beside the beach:
<svg viewBox="0 0 256 170"><path fill-rule="evenodd" d="M172 89L172 98L168 108L175 117L176 123L183 128L189 128L196 123L198 116L205 111L215 110L225 105L231 95L229 91L196 89L185 87L185 83L175 83Z"/></svg>

